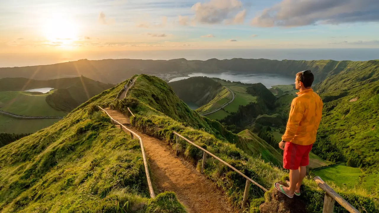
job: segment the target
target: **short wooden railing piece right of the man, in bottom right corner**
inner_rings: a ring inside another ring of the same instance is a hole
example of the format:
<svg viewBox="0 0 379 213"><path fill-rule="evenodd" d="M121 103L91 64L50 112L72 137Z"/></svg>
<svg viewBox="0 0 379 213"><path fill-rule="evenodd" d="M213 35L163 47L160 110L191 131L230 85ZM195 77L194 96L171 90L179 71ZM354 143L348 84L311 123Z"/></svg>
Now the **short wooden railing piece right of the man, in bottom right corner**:
<svg viewBox="0 0 379 213"><path fill-rule="evenodd" d="M360 213L356 208L349 204L345 199L343 199L338 193L336 193L330 186L328 186L323 179L316 176L313 180L317 183L324 192L326 192L324 197L324 208L323 213L333 213L334 202L337 201L342 207L346 208L351 213Z"/></svg>

